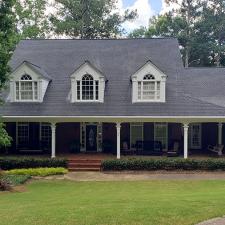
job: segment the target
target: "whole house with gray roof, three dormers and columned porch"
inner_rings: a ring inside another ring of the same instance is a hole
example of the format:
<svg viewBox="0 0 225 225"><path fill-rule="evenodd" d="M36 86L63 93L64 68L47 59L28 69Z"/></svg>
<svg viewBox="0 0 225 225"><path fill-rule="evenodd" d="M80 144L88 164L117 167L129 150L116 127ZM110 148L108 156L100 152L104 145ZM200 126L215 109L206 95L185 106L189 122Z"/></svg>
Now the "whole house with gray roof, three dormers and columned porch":
<svg viewBox="0 0 225 225"><path fill-rule="evenodd" d="M10 153L120 158L178 142L187 158L225 141L225 69L184 68L176 39L23 40L10 66Z"/></svg>

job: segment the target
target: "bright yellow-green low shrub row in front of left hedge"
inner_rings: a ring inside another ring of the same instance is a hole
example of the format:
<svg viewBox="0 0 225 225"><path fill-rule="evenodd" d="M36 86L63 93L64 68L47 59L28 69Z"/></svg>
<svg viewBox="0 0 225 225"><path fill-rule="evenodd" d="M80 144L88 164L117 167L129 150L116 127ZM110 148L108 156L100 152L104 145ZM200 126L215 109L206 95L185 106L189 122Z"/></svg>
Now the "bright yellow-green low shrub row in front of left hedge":
<svg viewBox="0 0 225 225"><path fill-rule="evenodd" d="M57 168L29 168L29 169L14 169L5 171L8 175L29 175L29 176L51 176L62 175L68 173L68 170L63 167Z"/></svg>

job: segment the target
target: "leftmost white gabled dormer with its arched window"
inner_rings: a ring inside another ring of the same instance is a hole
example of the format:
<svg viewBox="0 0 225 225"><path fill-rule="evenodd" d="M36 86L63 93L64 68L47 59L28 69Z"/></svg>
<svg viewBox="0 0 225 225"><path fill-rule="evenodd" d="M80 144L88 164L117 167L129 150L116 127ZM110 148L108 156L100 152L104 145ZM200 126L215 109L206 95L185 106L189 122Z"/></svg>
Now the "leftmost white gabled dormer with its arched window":
<svg viewBox="0 0 225 225"><path fill-rule="evenodd" d="M43 102L50 81L43 69L24 61L10 75L10 101Z"/></svg>

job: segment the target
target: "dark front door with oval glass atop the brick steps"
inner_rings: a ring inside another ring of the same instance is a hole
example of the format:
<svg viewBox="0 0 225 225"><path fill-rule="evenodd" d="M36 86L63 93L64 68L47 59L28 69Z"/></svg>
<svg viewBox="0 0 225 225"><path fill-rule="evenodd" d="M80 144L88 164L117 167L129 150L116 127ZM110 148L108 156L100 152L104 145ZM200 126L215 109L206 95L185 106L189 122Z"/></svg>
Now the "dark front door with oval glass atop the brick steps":
<svg viewBox="0 0 225 225"><path fill-rule="evenodd" d="M86 151L97 151L97 125L86 125Z"/></svg>

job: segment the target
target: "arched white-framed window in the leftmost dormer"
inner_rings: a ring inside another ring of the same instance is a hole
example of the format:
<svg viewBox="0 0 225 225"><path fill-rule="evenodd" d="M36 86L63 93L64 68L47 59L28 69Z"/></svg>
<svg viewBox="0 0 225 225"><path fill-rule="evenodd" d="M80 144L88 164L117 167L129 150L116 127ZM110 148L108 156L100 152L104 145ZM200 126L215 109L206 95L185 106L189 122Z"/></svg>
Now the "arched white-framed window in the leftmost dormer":
<svg viewBox="0 0 225 225"><path fill-rule="evenodd" d="M30 75L25 74L21 77L20 81L16 81L16 100L38 100L38 83L37 81L33 81Z"/></svg>

